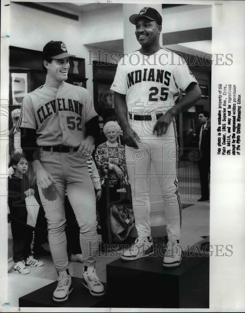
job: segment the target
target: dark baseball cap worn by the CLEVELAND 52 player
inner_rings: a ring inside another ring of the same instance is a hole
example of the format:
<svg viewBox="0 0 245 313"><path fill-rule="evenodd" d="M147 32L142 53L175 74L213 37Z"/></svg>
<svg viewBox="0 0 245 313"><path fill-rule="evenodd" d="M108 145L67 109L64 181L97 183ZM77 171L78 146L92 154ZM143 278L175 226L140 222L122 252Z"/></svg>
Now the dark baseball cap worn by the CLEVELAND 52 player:
<svg viewBox="0 0 245 313"><path fill-rule="evenodd" d="M52 59L63 59L67 57L75 57L73 54L69 54L66 49L66 45L63 41L49 41L42 50L43 60Z"/></svg>

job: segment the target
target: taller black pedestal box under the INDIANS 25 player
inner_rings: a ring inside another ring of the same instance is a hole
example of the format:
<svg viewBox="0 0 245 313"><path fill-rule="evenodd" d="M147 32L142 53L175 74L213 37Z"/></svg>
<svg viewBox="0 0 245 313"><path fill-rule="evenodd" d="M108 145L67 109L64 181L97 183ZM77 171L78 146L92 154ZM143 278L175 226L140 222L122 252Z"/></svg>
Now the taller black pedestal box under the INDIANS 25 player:
<svg viewBox="0 0 245 313"><path fill-rule="evenodd" d="M161 256L107 264L110 307L209 307L208 257L185 256L175 268L162 264Z"/></svg>

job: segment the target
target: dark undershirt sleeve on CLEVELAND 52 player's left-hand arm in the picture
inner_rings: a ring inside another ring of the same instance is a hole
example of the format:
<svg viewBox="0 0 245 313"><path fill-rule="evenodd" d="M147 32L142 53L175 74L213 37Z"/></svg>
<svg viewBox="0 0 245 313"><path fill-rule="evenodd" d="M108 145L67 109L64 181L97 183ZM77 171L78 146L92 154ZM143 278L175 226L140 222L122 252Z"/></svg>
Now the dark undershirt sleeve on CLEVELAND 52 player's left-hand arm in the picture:
<svg viewBox="0 0 245 313"><path fill-rule="evenodd" d="M28 162L38 160L41 148L37 146L36 130L32 128L21 128L21 148Z"/></svg>

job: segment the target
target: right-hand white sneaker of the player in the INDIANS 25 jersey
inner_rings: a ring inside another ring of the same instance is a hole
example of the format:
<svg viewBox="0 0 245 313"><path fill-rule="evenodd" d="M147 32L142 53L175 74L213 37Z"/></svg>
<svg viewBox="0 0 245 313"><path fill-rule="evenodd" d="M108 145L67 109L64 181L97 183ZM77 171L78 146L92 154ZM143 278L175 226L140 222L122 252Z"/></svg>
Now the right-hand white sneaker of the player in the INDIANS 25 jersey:
<svg viewBox="0 0 245 313"><path fill-rule="evenodd" d="M165 252L163 259L163 266L165 267L175 267L181 262L182 254L180 245L176 240L168 241L168 248Z"/></svg>

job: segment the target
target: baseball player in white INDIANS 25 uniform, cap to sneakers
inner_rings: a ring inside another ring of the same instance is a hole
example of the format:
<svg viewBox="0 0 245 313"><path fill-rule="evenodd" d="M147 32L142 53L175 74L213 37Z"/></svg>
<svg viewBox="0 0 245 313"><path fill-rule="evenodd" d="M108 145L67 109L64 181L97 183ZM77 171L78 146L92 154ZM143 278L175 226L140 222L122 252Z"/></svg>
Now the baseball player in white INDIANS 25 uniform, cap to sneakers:
<svg viewBox="0 0 245 313"><path fill-rule="evenodd" d="M175 116L192 107L201 98L201 91L183 59L160 46L162 17L157 10L145 7L129 20L136 25L135 34L141 49L119 61L111 86L126 143L138 231L138 238L123 253L122 259L135 260L154 253L148 196L152 162L163 192L167 219L168 247L163 266L174 267L181 262ZM177 106L175 101L180 88L186 95Z"/></svg>

